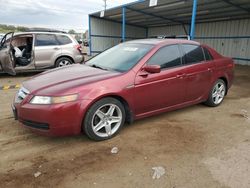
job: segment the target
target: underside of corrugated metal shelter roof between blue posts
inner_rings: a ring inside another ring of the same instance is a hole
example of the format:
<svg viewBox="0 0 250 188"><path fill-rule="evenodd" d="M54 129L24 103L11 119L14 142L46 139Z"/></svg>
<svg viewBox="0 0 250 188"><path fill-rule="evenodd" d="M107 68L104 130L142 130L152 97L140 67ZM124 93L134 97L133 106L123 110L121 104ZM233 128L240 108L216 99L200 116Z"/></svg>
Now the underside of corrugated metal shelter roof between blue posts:
<svg viewBox="0 0 250 188"><path fill-rule="evenodd" d="M125 6L126 23L142 27L190 24L193 0L158 0L149 7L149 0L139 0ZM103 19L122 21L122 7L105 11ZM91 14L100 18L100 12ZM197 23L250 18L250 0L199 0Z"/></svg>

